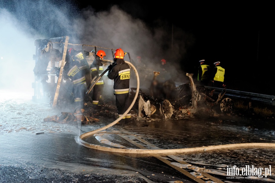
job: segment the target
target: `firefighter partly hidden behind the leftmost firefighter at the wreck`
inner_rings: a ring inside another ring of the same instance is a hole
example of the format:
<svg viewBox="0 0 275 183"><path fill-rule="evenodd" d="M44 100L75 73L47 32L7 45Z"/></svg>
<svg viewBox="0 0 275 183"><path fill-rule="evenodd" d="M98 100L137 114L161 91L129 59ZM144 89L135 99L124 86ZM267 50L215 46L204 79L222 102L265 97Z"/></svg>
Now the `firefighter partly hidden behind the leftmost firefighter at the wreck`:
<svg viewBox="0 0 275 183"><path fill-rule="evenodd" d="M84 75L86 79L86 87L89 86L92 79L91 79L90 66L86 58L90 57L92 55L92 52L87 52L85 50L77 51L75 48L70 48L68 52L69 52L70 59L72 59L73 61L75 60L79 61L80 63L79 69L84 71Z"/></svg>

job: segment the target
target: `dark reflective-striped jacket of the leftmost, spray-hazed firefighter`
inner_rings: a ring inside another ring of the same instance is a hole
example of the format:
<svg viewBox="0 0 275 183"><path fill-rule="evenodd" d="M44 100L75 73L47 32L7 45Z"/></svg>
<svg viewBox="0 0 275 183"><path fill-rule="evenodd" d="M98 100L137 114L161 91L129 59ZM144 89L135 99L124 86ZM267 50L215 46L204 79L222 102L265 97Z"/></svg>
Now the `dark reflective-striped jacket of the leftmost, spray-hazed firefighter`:
<svg viewBox="0 0 275 183"><path fill-rule="evenodd" d="M79 68L80 66L78 61L67 61L63 68L64 80L70 78L73 86L85 83L84 73L83 70Z"/></svg>

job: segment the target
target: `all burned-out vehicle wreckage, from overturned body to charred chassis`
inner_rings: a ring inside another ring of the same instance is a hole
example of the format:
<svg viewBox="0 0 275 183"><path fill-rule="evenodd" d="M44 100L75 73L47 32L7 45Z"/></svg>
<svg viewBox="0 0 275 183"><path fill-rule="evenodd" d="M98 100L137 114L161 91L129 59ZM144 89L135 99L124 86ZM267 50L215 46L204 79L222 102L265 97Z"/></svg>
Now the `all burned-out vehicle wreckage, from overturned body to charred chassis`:
<svg viewBox="0 0 275 183"><path fill-rule="evenodd" d="M87 57L89 65L93 62L98 49L106 50L106 55L109 56L108 58L111 58L102 59L105 69L113 62L112 58L115 49L71 44L68 42L68 39L68 36L66 36L35 40L34 102L48 104L54 108L61 109L64 106L70 106L72 103L72 84L70 81L64 81L62 77L68 48L89 51L90 55ZM125 61L127 59L131 61L130 53L127 52L127 55L128 58L125 57ZM180 119L192 116L192 114L197 113L199 110L213 113L231 113L233 111L234 102L230 95L226 95L226 88L196 85L193 81L193 74L189 73L186 73L186 77L190 82L180 83L171 80L162 82L158 80L161 74L158 71L147 73L146 77L151 78L152 81L148 88L139 88L138 90L138 98L131 109L131 116L134 119ZM132 74L131 79L135 79L134 74ZM112 82L112 80L106 80L103 92L105 96L102 96L102 100L100 101L101 107L92 107L90 102L91 95L90 92L87 92L91 88L87 87L86 94L84 95L85 111L77 112L72 110L71 113L62 112L62 115L59 117L48 117L44 120L54 120L57 122L81 120L83 124L89 124L91 121L98 120L96 116L100 116L100 113L103 113L102 115L105 117L117 117L115 116L117 112L115 97L112 97ZM130 87L131 99L134 99L136 91L136 87ZM73 118L71 118L72 116Z"/></svg>

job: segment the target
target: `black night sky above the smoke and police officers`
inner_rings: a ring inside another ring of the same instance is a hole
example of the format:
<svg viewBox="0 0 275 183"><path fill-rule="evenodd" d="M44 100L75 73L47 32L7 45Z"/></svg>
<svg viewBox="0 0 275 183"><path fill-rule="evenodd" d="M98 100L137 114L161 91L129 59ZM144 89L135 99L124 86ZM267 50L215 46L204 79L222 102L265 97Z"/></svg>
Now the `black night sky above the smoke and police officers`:
<svg viewBox="0 0 275 183"><path fill-rule="evenodd" d="M90 4L73 0L65 4L62 1L49 0L49 2L53 2L60 10L66 6L71 10L69 16L78 16L87 8L92 8L95 12L108 11L116 4L134 19L145 22L152 31L154 27L160 25L167 30L166 37L169 43L162 47L169 52L163 56L167 60L179 60L184 72L196 75L198 61L201 59L205 59L210 66L220 61L226 70L228 89L275 95L273 80L275 36L272 28L271 4L191 1L169 1L158 4L138 1L112 3L100 1ZM16 12L10 1L0 0L1 6ZM37 19L32 17L35 16L35 10L32 11L21 14L16 12L16 15L19 19L22 14ZM35 28L36 25L33 23L32 26ZM185 34L180 35L178 30ZM194 43L189 43L188 38L182 39L185 35L192 35ZM59 37L58 34L51 36ZM185 40L184 44L180 42L182 40ZM171 48L172 41L174 45L179 45L179 50L185 51L177 58L174 58L174 49Z"/></svg>

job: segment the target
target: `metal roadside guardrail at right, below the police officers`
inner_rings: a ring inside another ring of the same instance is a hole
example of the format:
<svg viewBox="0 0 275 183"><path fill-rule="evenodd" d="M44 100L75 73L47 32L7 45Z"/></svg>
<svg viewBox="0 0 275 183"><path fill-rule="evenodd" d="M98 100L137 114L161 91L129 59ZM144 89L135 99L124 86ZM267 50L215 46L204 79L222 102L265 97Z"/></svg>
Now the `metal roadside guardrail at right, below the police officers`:
<svg viewBox="0 0 275 183"><path fill-rule="evenodd" d="M215 88L210 86L204 86L208 89L215 89L215 92L220 93L223 88ZM250 102L259 102L265 105L275 106L275 96L274 95L264 95L258 93L250 93L245 91L237 91L237 90L229 90L226 89L226 93L224 96L247 100Z"/></svg>

